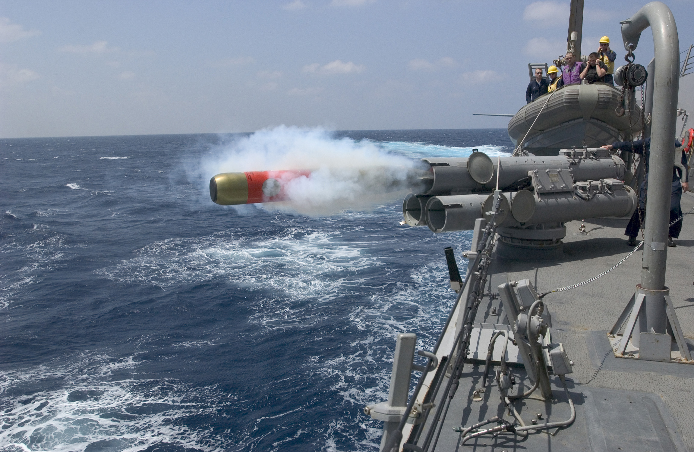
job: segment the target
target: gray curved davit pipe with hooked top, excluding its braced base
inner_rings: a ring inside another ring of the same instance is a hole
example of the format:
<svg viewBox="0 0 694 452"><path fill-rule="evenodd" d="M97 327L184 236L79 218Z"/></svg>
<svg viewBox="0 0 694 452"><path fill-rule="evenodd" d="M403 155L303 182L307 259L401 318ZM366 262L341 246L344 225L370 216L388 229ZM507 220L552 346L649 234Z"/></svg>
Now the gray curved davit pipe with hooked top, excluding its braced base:
<svg viewBox="0 0 694 452"><path fill-rule="evenodd" d="M624 48L636 49L641 32L650 26L653 33L656 66L650 73L653 82L648 199L646 200L645 245L641 286L649 290L665 288L670 184L675 137L675 115L679 91L679 38L670 8L652 1L622 25ZM664 305L663 305L664 309ZM661 331L656 331L660 333ZM664 332L664 331L662 331Z"/></svg>

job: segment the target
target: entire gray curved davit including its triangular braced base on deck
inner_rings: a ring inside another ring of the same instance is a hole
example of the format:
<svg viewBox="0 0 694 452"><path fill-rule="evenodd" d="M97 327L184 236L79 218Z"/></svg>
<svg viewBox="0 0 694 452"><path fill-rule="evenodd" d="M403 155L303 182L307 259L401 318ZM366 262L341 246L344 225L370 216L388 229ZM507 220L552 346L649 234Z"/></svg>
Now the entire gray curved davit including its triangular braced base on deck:
<svg viewBox="0 0 694 452"><path fill-rule="evenodd" d="M668 322L672 329L679 329L674 309L668 309L668 288L665 286L670 190L677 132L675 128L679 92L679 37L675 17L672 16L670 8L659 1L652 1L622 22L622 38L627 51L636 49L641 32L649 26L653 33L655 62L652 62L652 69L649 64L648 72L648 78L652 82L649 83L650 89L647 92L647 110L652 109L652 121L641 284L636 286L636 293L632 297L635 302L629 302L609 336L616 339L616 331L628 318L621 338L624 343L620 343L616 351L624 354L627 351L626 342L629 341L629 336L632 336L632 345L638 347L640 359L669 360L669 357L664 356L665 349L657 353L663 355L661 358L647 358L647 354L642 353L645 350L641 349L644 347L644 339L652 341L652 337L656 337L650 335L666 334ZM675 332L675 339L681 336L681 332ZM686 344L683 346L686 347ZM689 356L687 349L682 350L682 357L685 356Z"/></svg>

